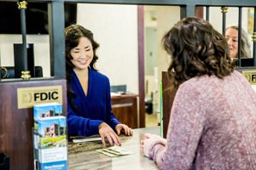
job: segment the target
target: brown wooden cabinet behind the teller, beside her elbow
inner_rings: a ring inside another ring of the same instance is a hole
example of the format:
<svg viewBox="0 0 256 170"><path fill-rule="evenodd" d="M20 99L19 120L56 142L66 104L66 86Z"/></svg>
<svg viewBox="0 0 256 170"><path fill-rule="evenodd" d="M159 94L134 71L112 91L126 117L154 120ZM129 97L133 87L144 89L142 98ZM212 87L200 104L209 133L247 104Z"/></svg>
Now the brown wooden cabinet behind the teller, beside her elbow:
<svg viewBox="0 0 256 170"><path fill-rule="evenodd" d="M137 128L137 95L121 95L111 97L112 111L119 122L131 128Z"/></svg>

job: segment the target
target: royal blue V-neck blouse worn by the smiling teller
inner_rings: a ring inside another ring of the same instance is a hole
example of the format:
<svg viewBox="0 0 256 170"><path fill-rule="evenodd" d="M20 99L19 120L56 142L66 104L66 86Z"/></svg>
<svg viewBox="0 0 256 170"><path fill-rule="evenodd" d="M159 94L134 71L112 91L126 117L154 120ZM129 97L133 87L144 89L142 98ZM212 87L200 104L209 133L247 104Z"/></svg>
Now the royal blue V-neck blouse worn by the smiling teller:
<svg viewBox="0 0 256 170"><path fill-rule="evenodd" d="M108 77L89 69L88 92L84 90L79 78L72 72L70 82L75 93L73 110L70 99L67 99L67 125L68 135L90 136L98 133L98 126L106 122L110 127L119 124L111 109L110 84ZM68 98L68 97L67 97Z"/></svg>

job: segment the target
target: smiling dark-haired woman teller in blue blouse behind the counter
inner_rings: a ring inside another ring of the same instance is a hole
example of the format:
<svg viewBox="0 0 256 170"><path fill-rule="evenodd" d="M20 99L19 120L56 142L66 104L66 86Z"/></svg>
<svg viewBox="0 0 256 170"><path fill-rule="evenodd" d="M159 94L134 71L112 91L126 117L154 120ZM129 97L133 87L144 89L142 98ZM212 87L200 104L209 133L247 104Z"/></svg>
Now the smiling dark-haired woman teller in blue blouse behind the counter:
<svg viewBox="0 0 256 170"><path fill-rule="evenodd" d="M117 134L132 135L132 130L113 115L108 77L96 71L99 44L83 26L68 26L65 35L68 135L99 133L104 145L105 139L119 145Z"/></svg>

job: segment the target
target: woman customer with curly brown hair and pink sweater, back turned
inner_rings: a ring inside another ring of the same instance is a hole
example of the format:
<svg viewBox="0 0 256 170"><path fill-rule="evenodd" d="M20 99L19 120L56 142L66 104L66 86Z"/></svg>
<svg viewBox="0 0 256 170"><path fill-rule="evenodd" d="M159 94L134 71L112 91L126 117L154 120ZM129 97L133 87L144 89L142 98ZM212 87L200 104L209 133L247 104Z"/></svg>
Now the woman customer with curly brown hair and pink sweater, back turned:
<svg viewBox="0 0 256 170"><path fill-rule="evenodd" d="M234 71L228 44L206 20L186 18L163 37L178 86L167 139L146 133L160 169L256 169L256 94Z"/></svg>

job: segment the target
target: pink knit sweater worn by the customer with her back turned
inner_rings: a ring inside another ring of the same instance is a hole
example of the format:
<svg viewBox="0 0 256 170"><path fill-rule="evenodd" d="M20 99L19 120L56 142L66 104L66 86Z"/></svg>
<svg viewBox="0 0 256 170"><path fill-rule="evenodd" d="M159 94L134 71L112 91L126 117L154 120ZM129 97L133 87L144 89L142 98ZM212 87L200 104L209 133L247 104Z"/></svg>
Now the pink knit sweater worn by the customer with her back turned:
<svg viewBox="0 0 256 170"><path fill-rule="evenodd" d="M175 96L167 143L149 156L160 169L256 170L256 93L241 73L194 77Z"/></svg>

